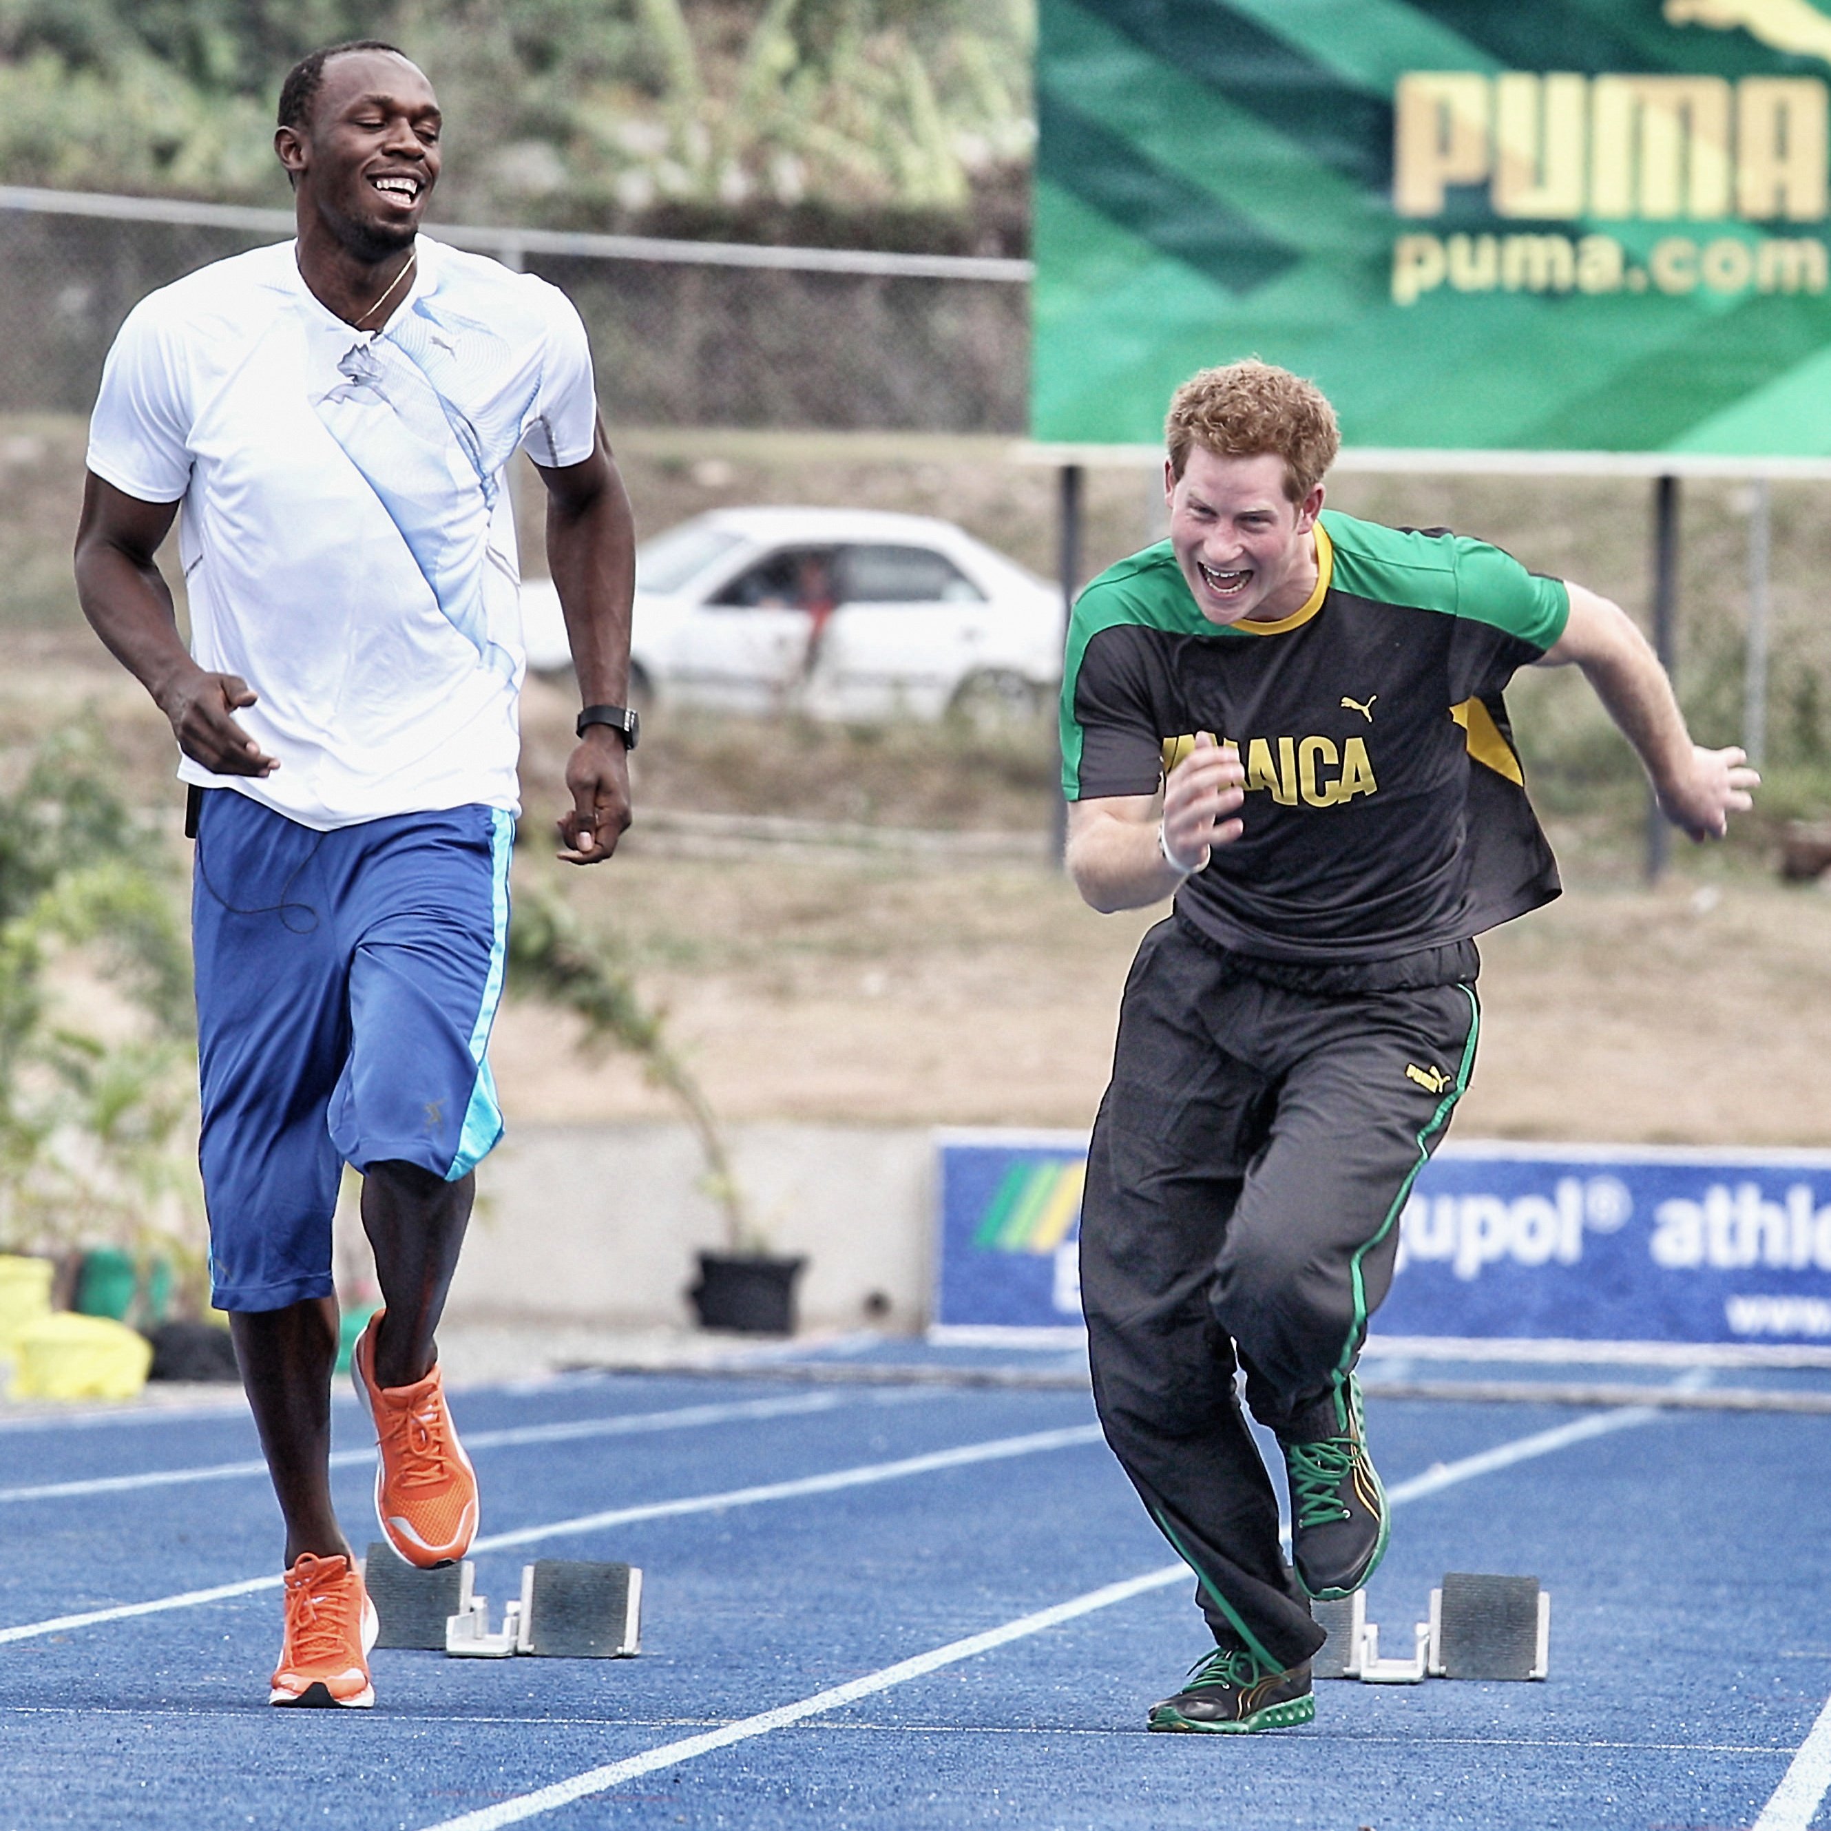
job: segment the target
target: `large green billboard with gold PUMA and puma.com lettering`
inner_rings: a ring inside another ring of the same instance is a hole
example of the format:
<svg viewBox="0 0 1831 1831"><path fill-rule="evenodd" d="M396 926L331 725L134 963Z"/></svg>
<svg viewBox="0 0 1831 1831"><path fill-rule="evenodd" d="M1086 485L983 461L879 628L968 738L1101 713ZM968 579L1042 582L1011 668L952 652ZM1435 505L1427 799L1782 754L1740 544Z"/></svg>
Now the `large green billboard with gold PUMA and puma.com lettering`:
<svg viewBox="0 0 1831 1831"><path fill-rule="evenodd" d="M1831 0L1042 0L1033 436L1831 454Z"/></svg>

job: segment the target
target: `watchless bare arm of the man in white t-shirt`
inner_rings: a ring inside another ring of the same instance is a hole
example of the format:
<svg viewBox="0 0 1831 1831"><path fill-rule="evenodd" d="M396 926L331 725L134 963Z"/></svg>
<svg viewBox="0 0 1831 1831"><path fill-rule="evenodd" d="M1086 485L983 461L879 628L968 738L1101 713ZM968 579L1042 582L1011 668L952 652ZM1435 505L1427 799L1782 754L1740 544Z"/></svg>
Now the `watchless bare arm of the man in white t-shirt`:
<svg viewBox="0 0 1831 1831"><path fill-rule="evenodd" d="M222 776L269 776L280 767L231 716L255 705L238 674L211 674L178 635L172 593L154 553L176 502L141 502L90 472L77 524L77 599L108 652L172 721L178 747Z"/></svg>

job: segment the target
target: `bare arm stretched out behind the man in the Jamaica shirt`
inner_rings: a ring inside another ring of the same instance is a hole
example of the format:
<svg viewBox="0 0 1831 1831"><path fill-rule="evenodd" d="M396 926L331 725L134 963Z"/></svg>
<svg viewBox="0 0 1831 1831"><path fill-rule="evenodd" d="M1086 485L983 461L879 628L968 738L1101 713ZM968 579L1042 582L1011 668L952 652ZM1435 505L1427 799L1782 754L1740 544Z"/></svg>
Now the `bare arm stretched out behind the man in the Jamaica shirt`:
<svg viewBox="0 0 1831 1831"><path fill-rule="evenodd" d="M1728 817L1754 806L1749 791L1761 778L1747 753L1692 743L1672 681L1628 613L1580 584L1567 590L1569 623L1540 666L1580 666L1646 765L1666 818L1696 840L1721 839Z"/></svg>

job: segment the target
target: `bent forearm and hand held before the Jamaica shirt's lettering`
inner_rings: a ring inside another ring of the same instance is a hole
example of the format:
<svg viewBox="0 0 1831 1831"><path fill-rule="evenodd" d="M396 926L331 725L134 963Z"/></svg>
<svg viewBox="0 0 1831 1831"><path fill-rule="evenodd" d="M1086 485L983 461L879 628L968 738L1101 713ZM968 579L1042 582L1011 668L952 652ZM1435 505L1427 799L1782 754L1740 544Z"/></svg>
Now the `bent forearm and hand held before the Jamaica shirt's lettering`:
<svg viewBox="0 0 1831 1831"><path fill-rule="evenodd" d="M1163 901L1207 866L1214 846L1240 837L1240 820L1230 817L1245 800L1243 782L1240 753L1219 749L1203 732L1161 795L1075 802L1067 809L1067 870L1082 901L1102 916Z"/></svg>

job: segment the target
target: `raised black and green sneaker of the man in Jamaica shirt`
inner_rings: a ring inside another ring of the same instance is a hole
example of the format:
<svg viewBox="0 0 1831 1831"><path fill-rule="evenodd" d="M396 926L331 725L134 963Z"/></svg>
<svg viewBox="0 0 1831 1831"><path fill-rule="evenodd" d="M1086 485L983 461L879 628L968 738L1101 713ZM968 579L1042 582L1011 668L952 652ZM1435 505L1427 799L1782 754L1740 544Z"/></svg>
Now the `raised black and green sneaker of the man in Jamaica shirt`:
<svg viewBox="0 0 1831 1831"><path fill-rule="evenodd" d="M1291 1478L1291 1562L1318 1602L1351 1597L1386 1555L1392 1514L1368 1456L1360 1386L1318 1401L1280 1434Z"/></svg>

